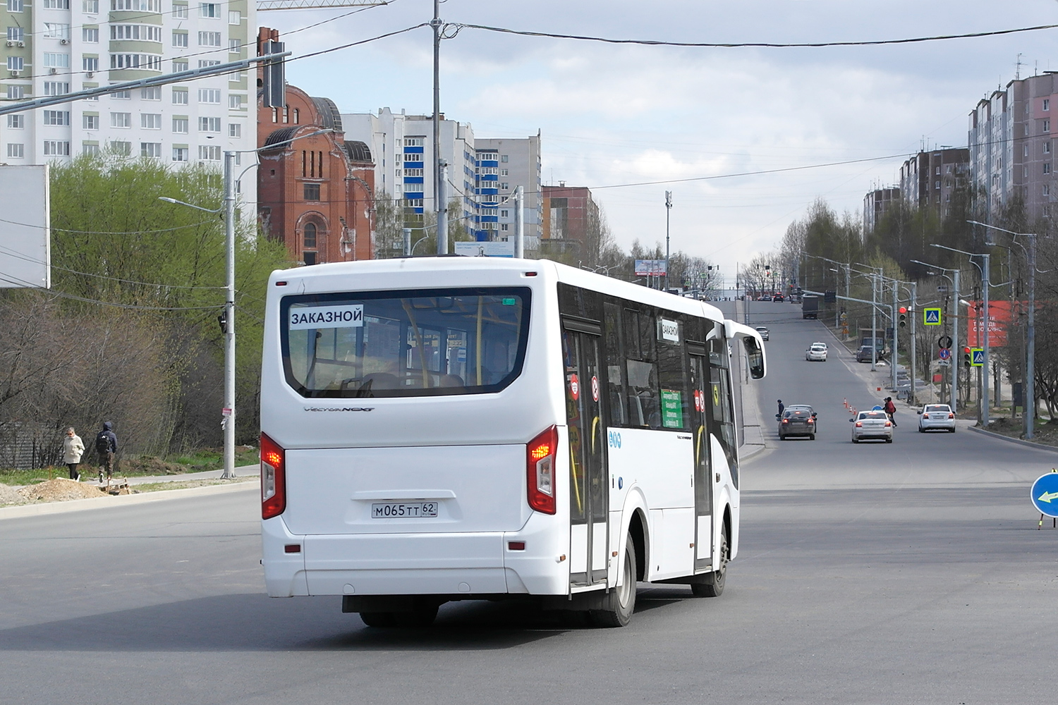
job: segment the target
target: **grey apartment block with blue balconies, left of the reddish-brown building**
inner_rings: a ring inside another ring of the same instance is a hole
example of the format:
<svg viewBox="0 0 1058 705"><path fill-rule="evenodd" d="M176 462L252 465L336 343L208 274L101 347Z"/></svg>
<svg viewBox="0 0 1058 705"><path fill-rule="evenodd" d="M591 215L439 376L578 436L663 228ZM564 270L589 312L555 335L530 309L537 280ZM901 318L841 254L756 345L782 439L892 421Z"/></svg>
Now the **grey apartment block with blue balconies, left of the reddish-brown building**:
<svg viewBox="0 0 1058 705"><path fill-rule="evenodd" d="M480 201L478 230L486 230L489 240L507 240L514 234L511 196L521 186L525 194L522 218L525 248L537 249L544 222L540 132L518 140L476 140L474 145ZM489 200L489 197L496 198Z"/></svg>

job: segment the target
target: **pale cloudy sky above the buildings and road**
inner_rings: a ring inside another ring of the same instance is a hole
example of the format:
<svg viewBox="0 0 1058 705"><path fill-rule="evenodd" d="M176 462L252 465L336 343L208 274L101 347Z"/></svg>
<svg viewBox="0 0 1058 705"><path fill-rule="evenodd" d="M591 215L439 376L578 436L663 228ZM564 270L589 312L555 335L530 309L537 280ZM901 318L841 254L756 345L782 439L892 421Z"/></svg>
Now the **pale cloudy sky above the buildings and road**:
<svg viewBox="0 0 1058 705"><path fill-rule="evenodd" d="M296 58L432 17L432 0L393 0L261 12L258 23L279 30ZM446 0L440 17L614 39L791 43L1052 24L1058 1ZM778 247L816 199L861 219L864 193L896 183L904 160L924 147L965 147L978 100L1019 71L1042 73L1052 59L1058 70L1056 40L1058 30L1042 30L883 47L703 49L462 27L441 42L441 112L477 137L540 130L544 183L591 188L625 249L635 239L663 245L671 190L672 251L733 278L736 263ZM433 33L294 60L287 79L342 112L431 114ZM846 162L857 163L835 164Z"/></svg>

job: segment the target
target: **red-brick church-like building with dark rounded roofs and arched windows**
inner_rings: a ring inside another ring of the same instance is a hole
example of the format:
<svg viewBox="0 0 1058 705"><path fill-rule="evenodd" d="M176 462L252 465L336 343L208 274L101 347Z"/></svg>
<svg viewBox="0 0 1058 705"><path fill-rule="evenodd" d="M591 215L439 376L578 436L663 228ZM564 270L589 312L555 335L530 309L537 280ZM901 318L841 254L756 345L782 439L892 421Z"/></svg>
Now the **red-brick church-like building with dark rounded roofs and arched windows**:
<svg viewBox="0 0 1058 705"><path fill-rule="evenodd" d="M324 129L332 132L304 136ZM268 237L305 264L373 258L375 163L367 145L345 141L334 103L290 85L284 108L264 108L258 95L257 135Z"/></svg>

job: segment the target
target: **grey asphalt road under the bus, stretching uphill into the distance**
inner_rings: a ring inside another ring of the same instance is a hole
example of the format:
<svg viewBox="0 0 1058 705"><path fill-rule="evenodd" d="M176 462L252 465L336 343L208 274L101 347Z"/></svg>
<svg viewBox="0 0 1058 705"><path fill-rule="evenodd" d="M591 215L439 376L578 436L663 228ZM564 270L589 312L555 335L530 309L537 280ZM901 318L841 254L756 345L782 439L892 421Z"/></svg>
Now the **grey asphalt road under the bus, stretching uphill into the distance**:
<svg viewBox="0 0 1058 705"><path fill-rule="evenodd" d="M788 303L751 323L771 329L768 447L722 597L643 585L618 630L521 604L371 630L336 597L261 595L254 489L0 519L0 701L1054 702L1058 531L1028 485L1058 454L919 434L902 409L893 444L853 445L869 366L806 363L834 341ZM815 442L778 442L776 398L818 409Z"/></svg>

